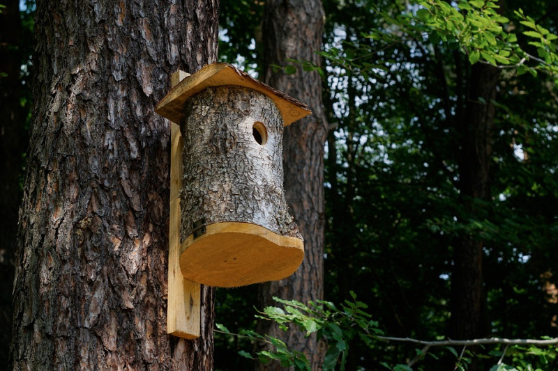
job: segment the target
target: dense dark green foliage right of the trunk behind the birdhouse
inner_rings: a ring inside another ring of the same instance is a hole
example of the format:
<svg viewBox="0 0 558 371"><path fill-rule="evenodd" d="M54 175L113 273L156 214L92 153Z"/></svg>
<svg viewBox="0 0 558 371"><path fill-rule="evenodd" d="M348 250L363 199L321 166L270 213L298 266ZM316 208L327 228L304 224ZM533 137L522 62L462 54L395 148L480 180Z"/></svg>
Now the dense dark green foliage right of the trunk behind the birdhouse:
<svg viewBox="0 0 558 371"><path fill-rule="evenodd" d="M555 79L547 79L555 66L556 7L506 3L324 1L322 67L306 69L321 70L327 120L335 126L326 161L325 295L344 302L358 292L394 336L448 333L452 255L463 235L483 242L483 333L557 334L558 100ZM458 161L467 90L472 70L492 64L502 72L497 95L478 100L495 105L490 194L467 199ZM303 70L276 66L276 73ZM227 321L226 313L219 316ZM252 319L243 321L234 318L249 328ZM407 343L348 344L350 370L396 365L415 354ZM459 356L462 349L455 349ZM522 367L509 361L512 350L504 361ZM435 356L445 365L455 357L450 352ZM477 360L481 370L492 361ZM420 364L437 368L432 356Z"/></svg>

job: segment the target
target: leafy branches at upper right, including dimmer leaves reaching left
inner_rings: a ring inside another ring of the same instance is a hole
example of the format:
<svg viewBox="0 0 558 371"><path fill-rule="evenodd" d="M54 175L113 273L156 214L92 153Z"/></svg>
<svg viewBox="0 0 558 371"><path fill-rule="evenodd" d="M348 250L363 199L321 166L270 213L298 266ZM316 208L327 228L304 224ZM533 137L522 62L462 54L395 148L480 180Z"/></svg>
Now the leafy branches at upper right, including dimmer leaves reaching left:
<svg viewBox="0 0 558 371"><path fill-rule="evenodd" d="M368 43L346 42L345 47L330 47L322 55L343 68L357 68L365 76L385 70L389 60L382 61L384 48L400 44L423 43L432 46L444 43L450 49L460 49L471 64L483 61L501 68L515 68L518 74L538 71L550 74L558 84L558 35L536 24L519 8L514 10L518 23L527 27L527 45L534 47L537 56L530 54L513 32L516 26L508 17L499 13L500 6L492 0L460 0L450 3L444 0L414 0L408 10L391 15L380 6L373 7L390 26L385 29L363 31L363 38L377 40L385 46L371 49ZM420 46L418 46L420 47ZM532 48L531 48L532 49ZM371 63L369 60L373 60Z"/></svg>

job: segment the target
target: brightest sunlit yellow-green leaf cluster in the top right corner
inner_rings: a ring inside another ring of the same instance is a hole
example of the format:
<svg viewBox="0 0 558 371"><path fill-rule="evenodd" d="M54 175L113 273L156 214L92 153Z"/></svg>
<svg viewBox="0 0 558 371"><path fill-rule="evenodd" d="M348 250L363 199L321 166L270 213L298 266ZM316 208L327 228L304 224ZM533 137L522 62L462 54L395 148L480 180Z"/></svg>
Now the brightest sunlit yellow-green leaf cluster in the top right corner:
<svg viewBox="0 0 558 371"><path fill-rule="evenodd" d="M557 49L552 43L558 36L536 24L521 8L514 11L515 16L520 24L527 26L528 31L522 33L533 39L529 45L536 47L538 57L525 52L518 44L517 35L511 32L510 19L498 13L500 6L495 1L461 0L456 7L438 0L421 0L417 4L422 8L406 22L413 26L418 20L414 34L430 31L427 37L434 38L433 43L457 43L472 64L483 58L492 65L513 65L519 74L529 71L535 76L537 70L546 70L558 78ZM529 60L537 64L528 67L525 62Z"/></svg>

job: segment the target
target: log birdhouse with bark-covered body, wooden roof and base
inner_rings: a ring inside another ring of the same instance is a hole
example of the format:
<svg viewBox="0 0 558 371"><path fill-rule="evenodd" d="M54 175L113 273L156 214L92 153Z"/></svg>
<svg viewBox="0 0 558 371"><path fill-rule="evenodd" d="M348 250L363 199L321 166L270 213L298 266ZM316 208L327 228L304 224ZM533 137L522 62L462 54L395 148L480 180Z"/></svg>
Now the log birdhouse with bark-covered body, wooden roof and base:
<svg viewBox="0 0 558 371"><path fill-rule="evenodd" d="M234 287L291 275L304 250L282 189L282 133L310 114L306 106L214 63L176 84L156 112L181 136L172 139L180 212L173 219L171 210L169 237L180 236L183 278Z"/></svg>

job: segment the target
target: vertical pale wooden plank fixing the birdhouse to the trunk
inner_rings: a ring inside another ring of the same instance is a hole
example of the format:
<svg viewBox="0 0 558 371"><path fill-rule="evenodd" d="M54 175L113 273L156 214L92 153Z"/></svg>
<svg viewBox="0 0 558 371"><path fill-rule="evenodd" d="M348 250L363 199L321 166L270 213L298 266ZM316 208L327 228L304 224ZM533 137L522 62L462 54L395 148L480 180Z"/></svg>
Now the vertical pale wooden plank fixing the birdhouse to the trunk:
<svg viewBox="0 0 558 371"><path fill-rule="evenodd" d="M178 70L172 74L172 87L190 76ZM199 283L186 280L180 270L180 198L182 188L183 139L178 123L171 123L170 220L169 220L169 292L167 333L179 338L199 337L201 313Z"/></svg>

